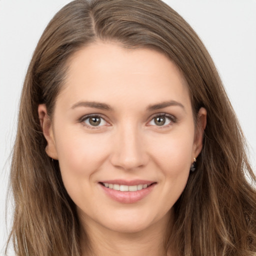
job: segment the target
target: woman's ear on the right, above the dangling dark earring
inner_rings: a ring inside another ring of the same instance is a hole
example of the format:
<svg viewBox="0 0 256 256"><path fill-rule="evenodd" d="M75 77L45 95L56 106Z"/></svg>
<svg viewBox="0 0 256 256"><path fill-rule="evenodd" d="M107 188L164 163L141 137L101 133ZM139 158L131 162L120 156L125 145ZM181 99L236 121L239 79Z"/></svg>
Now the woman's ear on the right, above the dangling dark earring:
<svg viewBox="0 0 256 256"><path fill-rule="evenodd" d="M206 127L206 117L207 111L204 107L201 107L197 113L192 158L196 158L202 149L203 133ZM193 162L193 160L191 160L191 162Z"/></svg>

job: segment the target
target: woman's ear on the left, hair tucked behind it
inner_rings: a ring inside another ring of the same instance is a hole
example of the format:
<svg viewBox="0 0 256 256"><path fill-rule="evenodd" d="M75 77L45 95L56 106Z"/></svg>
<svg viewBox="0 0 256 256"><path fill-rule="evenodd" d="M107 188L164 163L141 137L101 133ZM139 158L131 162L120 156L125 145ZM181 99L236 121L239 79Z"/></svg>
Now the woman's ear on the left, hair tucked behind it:
<svg viewBox="0 0 256 256"><path fill-rule="evenodd" d="M47 115L47 109L45 104L38 105L38 116L43 135L47 141L47 145L45 147L46 154L53 159L58 159L53 135L52 122Z"/></svg>

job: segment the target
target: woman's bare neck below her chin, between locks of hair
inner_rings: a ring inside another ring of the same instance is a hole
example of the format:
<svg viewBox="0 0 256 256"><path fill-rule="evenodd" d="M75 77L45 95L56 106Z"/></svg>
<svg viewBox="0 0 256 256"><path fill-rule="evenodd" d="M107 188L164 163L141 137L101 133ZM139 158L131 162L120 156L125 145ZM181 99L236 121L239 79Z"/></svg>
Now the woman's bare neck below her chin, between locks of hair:
<svg viewBox="0 0 256 256"><path fill-rule="evenodd" d="M82 256L166 255L164 241L166 229L170 228L169 216L137 232L116 232L94 221L84 223L82 227L80 237Z"/></svg>

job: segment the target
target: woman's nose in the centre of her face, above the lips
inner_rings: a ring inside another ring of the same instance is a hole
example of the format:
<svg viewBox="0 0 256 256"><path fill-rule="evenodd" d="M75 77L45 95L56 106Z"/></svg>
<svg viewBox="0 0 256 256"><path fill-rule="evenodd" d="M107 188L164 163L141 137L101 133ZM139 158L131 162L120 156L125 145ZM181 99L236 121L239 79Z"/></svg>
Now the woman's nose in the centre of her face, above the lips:
<svg viewBox="0 0 256 256"><path fill-rule="evenodd" d="M145 166L148 155L143 142L143 134L137 127L123 125L112 143L111 164L124 170Z"/></svg>

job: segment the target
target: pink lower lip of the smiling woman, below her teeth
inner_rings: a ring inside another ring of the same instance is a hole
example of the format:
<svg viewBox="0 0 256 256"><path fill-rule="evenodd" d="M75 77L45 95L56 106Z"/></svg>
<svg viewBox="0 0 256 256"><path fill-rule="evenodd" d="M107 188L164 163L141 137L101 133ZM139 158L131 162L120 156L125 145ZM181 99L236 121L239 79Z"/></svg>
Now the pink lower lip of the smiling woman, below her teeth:
<svg viewBox="0 0 256 256"><path fill-rule="evenodd" d="M104 192L115 201L121 202L121 203L134 203L141 199L143 199L145 196L147 196L152 189L154 188L156 183L151 184L147 188L143 188L137 191L119 191L114 190L108 187L105 187L104 185L99 184Z"/></svg>

